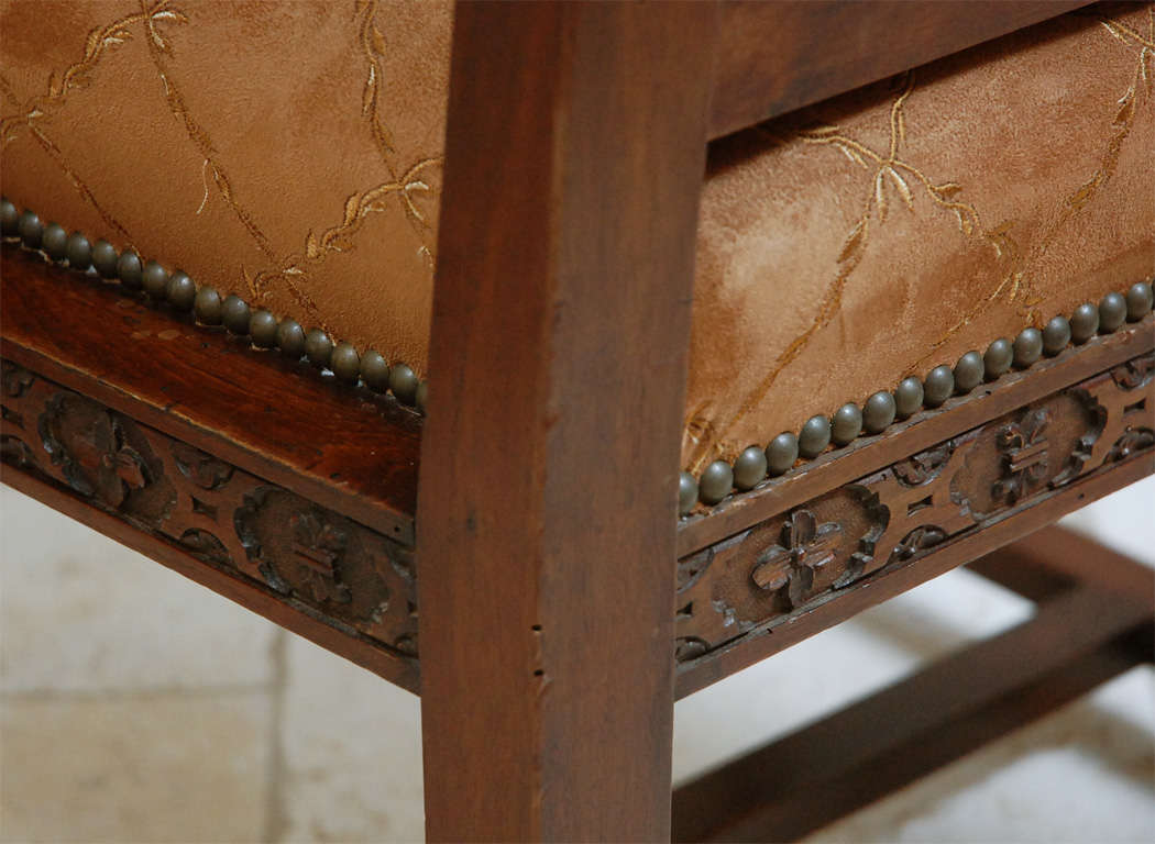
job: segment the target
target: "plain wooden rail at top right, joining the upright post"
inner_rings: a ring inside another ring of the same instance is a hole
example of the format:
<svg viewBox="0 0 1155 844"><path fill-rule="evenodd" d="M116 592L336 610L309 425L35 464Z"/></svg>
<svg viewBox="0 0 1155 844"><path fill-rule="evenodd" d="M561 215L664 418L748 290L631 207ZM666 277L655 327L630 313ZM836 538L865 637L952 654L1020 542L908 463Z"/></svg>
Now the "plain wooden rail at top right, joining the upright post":
<svg viewBox="0 0 1155 844"><path fill-rule="evenodd" d="M1087 0L722 0L710 137L1086 5Z"/></svg>

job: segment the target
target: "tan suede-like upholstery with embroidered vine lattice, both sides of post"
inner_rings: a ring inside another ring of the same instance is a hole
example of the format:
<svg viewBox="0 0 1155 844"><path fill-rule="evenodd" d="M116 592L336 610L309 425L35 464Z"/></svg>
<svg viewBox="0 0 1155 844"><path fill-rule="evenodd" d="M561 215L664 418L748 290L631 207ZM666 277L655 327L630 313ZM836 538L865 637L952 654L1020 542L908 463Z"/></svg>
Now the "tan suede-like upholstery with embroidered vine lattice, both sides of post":
<svg viewBox="0 0 1155 844"><path fill-rule="evenodd" d="M0 15L17 206L424 372L447 2ZM1153 48L1094 8L715 143L686 466L1149 278Z"/></svg>

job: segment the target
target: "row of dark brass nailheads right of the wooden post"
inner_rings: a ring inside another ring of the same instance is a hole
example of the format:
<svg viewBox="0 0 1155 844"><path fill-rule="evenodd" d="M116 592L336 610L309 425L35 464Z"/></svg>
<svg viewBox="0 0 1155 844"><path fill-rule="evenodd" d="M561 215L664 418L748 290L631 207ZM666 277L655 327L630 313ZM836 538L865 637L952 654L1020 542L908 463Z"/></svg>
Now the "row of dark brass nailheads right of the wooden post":
<svg viewBox="0 0 1155 844"><path fill-rule="evenodd" d="M1026 369L1044 357L1053 358L1072 345L1082 345L1096 334L1113 334L1126 322L1138 322L1152 311L1155 279L1135 282L1126 293L1111 292L1096 306L1085 303L1068 320L1056 316L1042 330L1028 327L1012 342L992 341L985 354L973 350L953 366L936 366L922 380L909 376L894 393L881 390L863 403L843 404L828 418L811 417L797 435L778 434L766 446L765 460L757 460L759 446L748 446L731 465L723 460L710 463L699 478L681 472L678 483L678 513L687 516L699 503L707 508L721 503L733 492L746 492L776 477L797 470L829 450L844 448L858 436L882 433L895 419L904 419L919 408L933 410L952 396L970 393L982 381L990 383L1012 369ZM833 446L832 446L833 442ZM799 460L800 455L800 460Z"/></svg>

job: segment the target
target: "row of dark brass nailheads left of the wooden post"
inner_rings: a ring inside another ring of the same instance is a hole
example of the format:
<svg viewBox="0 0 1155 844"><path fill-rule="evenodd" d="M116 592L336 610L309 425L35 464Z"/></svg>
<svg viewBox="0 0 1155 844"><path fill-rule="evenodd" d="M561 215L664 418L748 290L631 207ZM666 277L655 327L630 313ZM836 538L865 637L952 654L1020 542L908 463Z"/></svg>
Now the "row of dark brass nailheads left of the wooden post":
<svg viewBox="0 0 1155 844"><path fill-rule="evenodd" d="M278 319L264 309L253 311L240 297L230 294L222 299L215 287L196 284L181 270L170 274L158 261L144 261L132 249L118 253L106 240L91 244L81 232L66 234L57 223L44 225L31 210L17 211L7 197L0 197L0 231L5 240L16 240L52 263L116 278L128 296L147 296L177 311L192 311L201 326L224 324L230 334L248 337L255 349L276 348L295 360L308 360L331 372L343 383L374 393L392 391L400 403L425 414L427 382L418 381L404 361L386 364L372 349L358 353L351 343L335 343L319 328L306 334L295 320Z"/></svg>

